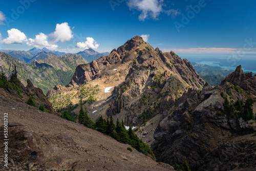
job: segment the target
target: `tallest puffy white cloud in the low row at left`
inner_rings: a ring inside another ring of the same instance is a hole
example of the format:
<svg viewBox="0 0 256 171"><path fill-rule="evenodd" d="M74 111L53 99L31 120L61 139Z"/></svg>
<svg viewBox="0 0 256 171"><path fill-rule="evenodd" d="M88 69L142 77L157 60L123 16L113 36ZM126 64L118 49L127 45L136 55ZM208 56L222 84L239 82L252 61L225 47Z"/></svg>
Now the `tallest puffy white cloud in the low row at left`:
<svg viewBox="0 0 256 171"><path fill-rule="evenodd" d="M74 37L68 23L57 24L55 31L49 34L51 42L70 41Z"/></svg>

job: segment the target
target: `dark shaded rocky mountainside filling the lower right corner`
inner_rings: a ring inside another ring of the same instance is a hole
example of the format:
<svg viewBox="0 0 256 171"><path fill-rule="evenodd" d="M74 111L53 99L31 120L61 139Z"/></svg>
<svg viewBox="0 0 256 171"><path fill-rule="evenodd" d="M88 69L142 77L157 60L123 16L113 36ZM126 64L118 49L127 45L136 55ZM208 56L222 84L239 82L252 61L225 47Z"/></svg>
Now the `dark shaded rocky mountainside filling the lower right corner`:
<svg viewBox="0 0 256 171"><path fill-rule="evenodd" d="M158 161L186 157L192 170L255 169L255 80L239 66L216 88L206 83L184 93L155 131Z"/></svg>

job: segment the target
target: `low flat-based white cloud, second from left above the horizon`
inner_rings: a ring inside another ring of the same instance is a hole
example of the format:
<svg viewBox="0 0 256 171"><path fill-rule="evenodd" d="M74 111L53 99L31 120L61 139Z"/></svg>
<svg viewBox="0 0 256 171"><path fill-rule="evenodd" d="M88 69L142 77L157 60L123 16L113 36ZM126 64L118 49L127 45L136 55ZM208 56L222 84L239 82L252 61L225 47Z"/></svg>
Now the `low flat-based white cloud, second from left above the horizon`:
<svg viewBox="0 0 256 171"><path fill-rule="evenodd" d="M44 33L37 34L34 39L29 38L27 45L34 47L42 46L49 49L56 49L58 47L57 45L49 44L48 36Z"/></svg>

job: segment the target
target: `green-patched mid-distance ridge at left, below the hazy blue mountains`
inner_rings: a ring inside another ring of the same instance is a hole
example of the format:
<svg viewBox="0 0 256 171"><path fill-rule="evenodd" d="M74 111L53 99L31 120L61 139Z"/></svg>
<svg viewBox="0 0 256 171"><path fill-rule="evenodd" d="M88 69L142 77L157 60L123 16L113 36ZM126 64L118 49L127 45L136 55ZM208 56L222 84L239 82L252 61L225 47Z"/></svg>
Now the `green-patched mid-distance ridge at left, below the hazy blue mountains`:
<svg viewBox="0 0 256 171"><path fill-rule="evenodd" d="M56 84L66 85L71 81L76 66L87 63L80 55L67 54L65 56L52 56L43 60L33 61L31 65L12 58L10 55L0 53L0 70L8 76L9 68L17 66L17 75L23 84L30 79L33 84L46 94Z"/></svg>

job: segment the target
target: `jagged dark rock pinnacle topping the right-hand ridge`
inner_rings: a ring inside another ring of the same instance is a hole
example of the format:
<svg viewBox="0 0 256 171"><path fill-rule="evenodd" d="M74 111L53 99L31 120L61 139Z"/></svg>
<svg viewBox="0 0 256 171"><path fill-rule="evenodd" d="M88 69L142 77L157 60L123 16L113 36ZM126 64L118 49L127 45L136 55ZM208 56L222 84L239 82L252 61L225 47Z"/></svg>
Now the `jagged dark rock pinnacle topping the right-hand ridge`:
<svg viewBox="0 0 256 171"><path fill-rule="evenodd" d="M230 83L232 83L236 86L239 86L239 84L241 82L243 82L246 79L249 79L250 77L252 77L252 72L245 74L242 70L242 66L240 65L240 66L237 67L237 69L233 73L226 76L222 80L221 84L224 84L227 81L227 82L230 82Z"/></svg>

